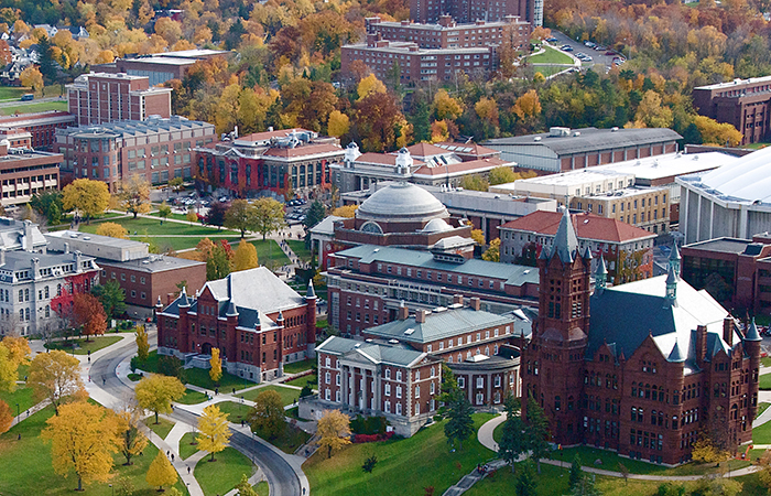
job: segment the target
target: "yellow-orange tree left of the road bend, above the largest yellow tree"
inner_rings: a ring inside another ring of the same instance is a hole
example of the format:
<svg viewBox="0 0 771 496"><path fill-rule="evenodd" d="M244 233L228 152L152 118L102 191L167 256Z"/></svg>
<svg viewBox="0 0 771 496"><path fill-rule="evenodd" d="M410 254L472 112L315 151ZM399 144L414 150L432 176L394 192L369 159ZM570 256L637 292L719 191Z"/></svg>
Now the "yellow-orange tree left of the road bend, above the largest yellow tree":
<svg viewBox="0 0 771 496"><path fill-rule="evenodd" d="M26 384L37 401L51 400L57 416L64 403L88 397L80 379L80 362L61 349L35 355Z"/></svg>

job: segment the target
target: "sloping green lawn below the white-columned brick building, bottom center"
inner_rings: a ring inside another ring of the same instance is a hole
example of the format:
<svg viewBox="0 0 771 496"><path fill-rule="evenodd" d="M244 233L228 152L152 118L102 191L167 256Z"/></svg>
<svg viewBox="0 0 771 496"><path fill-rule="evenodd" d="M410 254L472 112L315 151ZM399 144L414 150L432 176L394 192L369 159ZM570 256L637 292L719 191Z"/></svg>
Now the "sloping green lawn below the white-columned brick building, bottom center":
<svg viewBox="0 0 771 496"><path fill-rule="evenodd" d="M475 432L491 418L488 413L476 413ZM476 435L464 442L463 450L452 452L444 424L445 421L434 423L408 439L349 445L332 459L316 452L303 465L311 493L314 496L390 496L397 489L405 489L404 482L409 481L410 494L423 494L423 488L428 486L434 487L434 495L444 494L478 463L493 457ZM378 464L367 474L361 464L370 453L377 453ZM513 494L512 489L509 487L498 494Z"/></svg>

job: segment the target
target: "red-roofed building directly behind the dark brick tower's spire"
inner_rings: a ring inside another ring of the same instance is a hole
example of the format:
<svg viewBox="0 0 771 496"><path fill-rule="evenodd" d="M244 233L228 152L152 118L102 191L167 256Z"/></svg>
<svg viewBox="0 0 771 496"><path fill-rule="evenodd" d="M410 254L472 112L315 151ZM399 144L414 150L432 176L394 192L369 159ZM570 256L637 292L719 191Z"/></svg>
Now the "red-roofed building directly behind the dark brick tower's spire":
<svg viewBox="0 0 771 496"><path fill-rule="evenodd" d="M562 216L560 212L536 211L500 226L500 260L534 266L543 247L554 244ZM590 213L572 214L571 219L580 251L588 247L595 266L600 255L605 259L608 282L620 284L653 276L655 234Z"/></svg>

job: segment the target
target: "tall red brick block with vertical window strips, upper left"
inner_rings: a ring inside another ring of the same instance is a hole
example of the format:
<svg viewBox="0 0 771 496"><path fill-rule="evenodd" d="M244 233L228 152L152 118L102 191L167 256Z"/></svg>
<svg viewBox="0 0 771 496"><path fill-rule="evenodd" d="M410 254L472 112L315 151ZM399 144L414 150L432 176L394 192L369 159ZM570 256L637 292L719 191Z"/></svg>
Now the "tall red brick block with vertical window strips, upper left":
<svg viewBox="0 0 771 496"><path fill-rule="evenodd" d="M80 126L171 117L172 89L151 87L146 76L90 73L67 85L67 103Z"/></svg>

